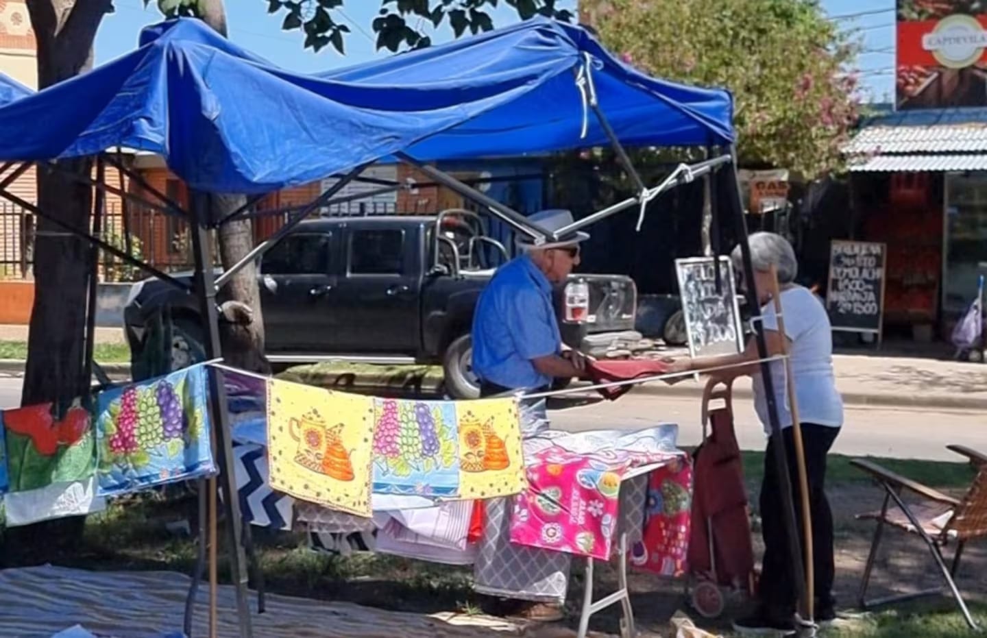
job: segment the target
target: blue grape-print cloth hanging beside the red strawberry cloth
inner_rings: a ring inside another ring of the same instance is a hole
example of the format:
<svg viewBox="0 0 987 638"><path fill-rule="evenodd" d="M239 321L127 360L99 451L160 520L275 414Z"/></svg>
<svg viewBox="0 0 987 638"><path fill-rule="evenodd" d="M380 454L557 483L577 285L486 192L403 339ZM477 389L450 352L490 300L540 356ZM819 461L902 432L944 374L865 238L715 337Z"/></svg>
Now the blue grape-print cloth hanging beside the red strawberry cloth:
<svg viewBox="0 0 987 638"><path fill-rule="evenodd" d="M115 496L215 471L208 370L107 390L97 397L99 494Z"/></svg>

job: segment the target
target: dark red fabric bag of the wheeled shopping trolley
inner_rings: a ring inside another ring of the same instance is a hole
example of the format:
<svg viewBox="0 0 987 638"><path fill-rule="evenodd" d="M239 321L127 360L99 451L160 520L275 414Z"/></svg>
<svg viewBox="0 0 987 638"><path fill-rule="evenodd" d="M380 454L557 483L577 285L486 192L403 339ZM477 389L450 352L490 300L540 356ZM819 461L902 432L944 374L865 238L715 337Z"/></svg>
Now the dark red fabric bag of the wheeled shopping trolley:
<svg viewBox="0 0 987 638"><path fill-rule="evenodd" d="M689 567L693 574L713 576L716 582L748 590L754 571L754 547L747 516L740 448L733 432L733 415L726 408L710 412L712 433L695 455L695 486Z"/></svg>

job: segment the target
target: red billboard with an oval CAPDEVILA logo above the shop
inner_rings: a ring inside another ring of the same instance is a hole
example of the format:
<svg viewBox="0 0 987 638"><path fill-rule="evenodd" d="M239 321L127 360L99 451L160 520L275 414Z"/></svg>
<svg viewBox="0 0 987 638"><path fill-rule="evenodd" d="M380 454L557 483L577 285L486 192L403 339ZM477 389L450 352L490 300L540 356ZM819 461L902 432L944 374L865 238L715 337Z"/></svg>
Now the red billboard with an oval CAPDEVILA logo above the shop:
<svg viewBox="0 0 987 638"><path fill-rule="evenodd" d="M987 106L987 0L897 0L895 104Z"/></svg>

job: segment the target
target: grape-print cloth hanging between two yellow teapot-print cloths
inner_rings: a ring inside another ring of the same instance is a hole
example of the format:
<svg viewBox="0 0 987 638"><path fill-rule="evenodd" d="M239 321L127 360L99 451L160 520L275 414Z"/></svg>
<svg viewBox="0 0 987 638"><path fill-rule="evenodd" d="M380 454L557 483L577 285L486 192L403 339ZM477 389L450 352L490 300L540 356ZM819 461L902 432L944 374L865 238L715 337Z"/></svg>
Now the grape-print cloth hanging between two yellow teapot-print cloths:
<svg viewBox="0 0 987 638"><path fill-rule="evenodd" d="M455 497L459 427L453 401L374 399L375 494Z"/></svg>

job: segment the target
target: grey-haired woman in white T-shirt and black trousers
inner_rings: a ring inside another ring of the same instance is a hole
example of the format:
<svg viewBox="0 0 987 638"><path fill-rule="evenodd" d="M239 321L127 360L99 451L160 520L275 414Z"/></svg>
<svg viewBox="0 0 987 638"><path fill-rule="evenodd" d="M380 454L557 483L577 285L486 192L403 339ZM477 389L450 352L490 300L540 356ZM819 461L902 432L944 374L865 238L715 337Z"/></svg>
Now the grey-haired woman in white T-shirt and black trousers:
<svg viewBox="0 0 987 638"><path fill-rule="evenodd" d="M795 283L797 260L789 242L774 233L756 233L748 239L754 265L754 290L764 323L769 355L780 354L782 339L788 342L798 401L798 427L805 454L808 474L809 511L812 517L812 548L815 568L815 619L820 622L835 617L833 587L833 517L826 500L826 454L843 425L843 400L836 390L833 375L833 339L829 318L822 302L807 289ZM733 250L737 272L743 272L740 247ZM778 274L784 313L785 334L778 328L771 298L771 268ZM741 279L741 286L745 282ZM750 375L754 381L754 406L766 434L771 433L768 402L761 378L757 344L752 338L741 354L677 360L677 372L702 372L711 368L740 364L738 368L717 371L718 378L729 379ZM747 365L743 365L747 364ZM788 457L797 505L797 522L801 525L800 500L797 489L797 461L792 434L792 412L786 389L785 370L781 362L771 363L771 378L782 427L784 450L775 439L769 439L764 459L764 479L761 484L761 527L764 535L764 560L758 588L757 611L749 618L734 623L740 633L765 633L794 629L797 587L791 570L790 551L784 525L784 504L779 490L780 477L776 471L775 455Z"/></svg>

